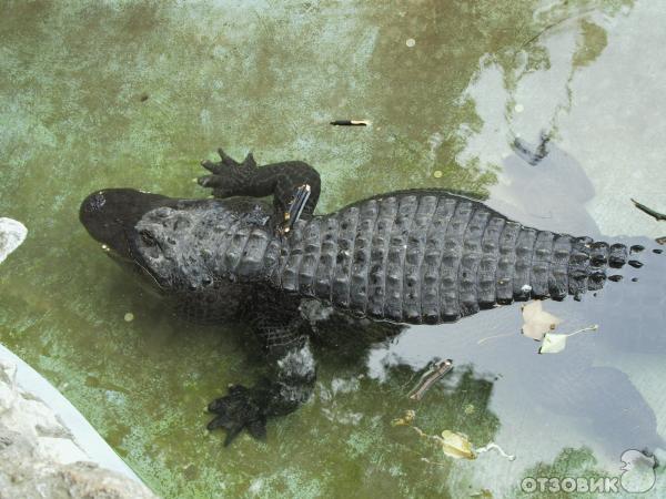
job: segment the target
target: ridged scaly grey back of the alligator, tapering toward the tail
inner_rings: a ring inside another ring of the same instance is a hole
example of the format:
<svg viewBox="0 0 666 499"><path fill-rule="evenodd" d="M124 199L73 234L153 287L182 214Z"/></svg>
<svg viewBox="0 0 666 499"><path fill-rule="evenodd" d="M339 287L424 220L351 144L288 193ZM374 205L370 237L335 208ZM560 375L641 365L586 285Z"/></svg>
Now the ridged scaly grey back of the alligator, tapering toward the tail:
<svg viewBox="0 0 666 499"><path fill-rule="evenodd" d="M437 324L513 301L578 298L603 287L627 254L622 244L524 227L444 191L404 191L301 221L270 278L359 315Z"/></svg>

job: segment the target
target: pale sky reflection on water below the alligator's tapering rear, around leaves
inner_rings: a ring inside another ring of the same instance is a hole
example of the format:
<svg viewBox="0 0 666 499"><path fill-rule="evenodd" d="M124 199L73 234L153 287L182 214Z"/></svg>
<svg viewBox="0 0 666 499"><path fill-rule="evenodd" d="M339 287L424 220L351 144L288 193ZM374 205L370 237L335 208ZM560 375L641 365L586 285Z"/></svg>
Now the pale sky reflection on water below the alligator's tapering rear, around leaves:
<svg viewBox="0 0 666 499"><path fill-rule="evenodd" d="M646 244L626 241L638 242ZM519 334L523 319L519 308L512 306L453 327L413 327L397 342L372 350L371 376L383 379L395 365L422 369L433 353L485 373L494 378L488 409L502 421L495 441L523 462L548 462L562 448L584 446L613 469L627 448L664 448L655 414L664 417L657 387L636 386L632 380L636 365L625 368L637 359L653 367L666 355L666 287L660 277L666 258L653 253L643 258L645 267L627 268L620 283L607 283L596 296L588 294L582 303L545 304L564 319L562 333L599 325L597 333L571 338L561 354L537 355L539 345ZM645 272L649 268L653 272ZM639 281L633 283L636 276ZM519 471L503 465L507 467L500 482L511 487L519 481L515 475ZM482 468L478 479L484 481L487 470Z"/></svg>

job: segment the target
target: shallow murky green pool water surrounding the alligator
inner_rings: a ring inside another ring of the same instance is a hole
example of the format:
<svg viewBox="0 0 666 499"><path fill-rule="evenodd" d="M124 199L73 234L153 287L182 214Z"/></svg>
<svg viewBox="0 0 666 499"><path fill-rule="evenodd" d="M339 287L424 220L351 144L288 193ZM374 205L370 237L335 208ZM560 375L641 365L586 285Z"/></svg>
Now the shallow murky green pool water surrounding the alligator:
<svg viewBox="0 0 666 499"><path fill-rule="evenodd" d="M261 359L242 327L174 319L99 251L77 218L95 189L203 196L198 162L223 145L313 164L321 211L437 186L488 195L539 228L648 247L665 235L629 197L666 212L666 8L382 3L6 2L0 215L30 232L1 267L0 342L163 497L514 497L524 477L618 476L623 450L666 435L666 257L649 252L596 299L545 305L563 332L599 324L561 354L536 354L517 305L371 346L319 345L315 396L272 421L266 444L225 449L204 430L205 404L252 381ZM533 166L512 144L534 150L542 132L548 154ZM456 367L412 403L434 357ZM516 459L447 458L392 427L410 408L428 434ZM646 497L666 490L657 476Z"/></svg>

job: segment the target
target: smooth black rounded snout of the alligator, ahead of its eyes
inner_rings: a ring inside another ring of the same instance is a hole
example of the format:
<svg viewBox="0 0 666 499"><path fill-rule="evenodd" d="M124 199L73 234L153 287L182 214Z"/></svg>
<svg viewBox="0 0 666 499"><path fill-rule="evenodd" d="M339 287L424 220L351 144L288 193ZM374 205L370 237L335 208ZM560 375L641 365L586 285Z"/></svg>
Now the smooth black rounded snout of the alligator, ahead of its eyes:
<svg viewBox="0 0 666 499"><path fill-rule="evenodd" d="M143 215L174 200L133 189L105 189L90 194L79 210L79 220L107 254L124 267L142 272L137 244L137 224Z"/></svg>

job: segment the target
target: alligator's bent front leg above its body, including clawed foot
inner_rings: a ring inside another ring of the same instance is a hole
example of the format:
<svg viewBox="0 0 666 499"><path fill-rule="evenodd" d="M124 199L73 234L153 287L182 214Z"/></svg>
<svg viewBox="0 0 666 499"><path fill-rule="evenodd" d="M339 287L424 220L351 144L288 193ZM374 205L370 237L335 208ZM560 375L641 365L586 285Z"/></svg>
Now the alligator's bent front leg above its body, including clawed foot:
<svg viewBox="0 0 666 499"><path fill-rule="evenodd" d="M203 161L201 165L212 174L199 177L203 187L213 190L215 197L231 196L273 196L276 215L284 216L290 211L299 187L310 185L310 197L305 202L302 216L309 217L314 212L320 195L321 181L319 173L307 163L286 161L258 166L252 153L242 163L231 159L221 149L218 150L220 161Z"/></svg>

